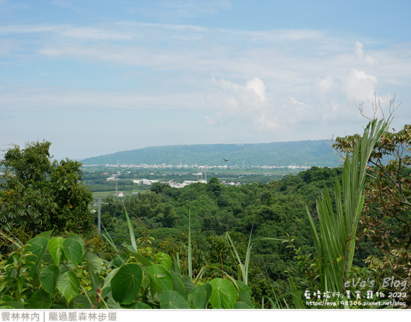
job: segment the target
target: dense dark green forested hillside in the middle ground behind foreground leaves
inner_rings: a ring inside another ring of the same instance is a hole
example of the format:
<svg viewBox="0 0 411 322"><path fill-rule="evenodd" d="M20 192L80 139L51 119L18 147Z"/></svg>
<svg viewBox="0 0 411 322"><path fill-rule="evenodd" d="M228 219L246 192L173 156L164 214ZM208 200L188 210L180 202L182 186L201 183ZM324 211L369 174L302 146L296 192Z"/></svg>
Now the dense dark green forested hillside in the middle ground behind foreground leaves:
<svg viewBox="0 0 411 322"><path fill-rule="evenodd" d="M241 258L245 258L251 234L252 251L249 265L250 287L259 302L262 296L273 296L275 291L286 293L286 271L298 273L297 261L287 245L277 238L297 238L297 247L308 256L314 251L308 205L315 210L315 199L325 186L332 187L339 177L340 168L318 168L289 175L279 182L225 186L213 177L208 184L191 184L184 188L171 188L167 184L154 184L151 191L127 195L123 202L134 214L132 223L142 236L150 236L151 245L158 251L182 260L187 268L188 216L191 215L193 273L213 265L203 276L224 272L238 277L238 260L233 257L224 236L229 232ZM121 199L107 197L101 207L101 223L108 234L127 238L127 221ZM133 217L133 216L132 216ZM278 288L278 289L276 289Z"/></svg>

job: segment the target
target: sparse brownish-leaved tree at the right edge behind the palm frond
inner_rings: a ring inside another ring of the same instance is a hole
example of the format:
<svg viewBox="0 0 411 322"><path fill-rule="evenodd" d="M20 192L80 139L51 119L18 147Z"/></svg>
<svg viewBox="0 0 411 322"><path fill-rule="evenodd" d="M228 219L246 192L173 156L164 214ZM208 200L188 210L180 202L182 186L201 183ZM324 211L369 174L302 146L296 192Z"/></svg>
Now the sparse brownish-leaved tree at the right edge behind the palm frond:
<svg viewBox="0 0 411 322"><path fill-rule="evenodd" d="M379 103L373 106L374 114L375 106ZM396 109L391 101L385 118L387 123L392 123ZM349 152L362 140L358 134L336 138L333 147L340 152ZM399 131L390 125L369 158L371 166L367 169L358 238L373 245L374 252L365 254L364 257L368 256L365 262L383 272L381 278L395 275L406 281L411 276L410 152L411 125L404 125ZM404 292L409 292L409 287L410 284ZM411 303L410 297L407 303Z"/></svg>

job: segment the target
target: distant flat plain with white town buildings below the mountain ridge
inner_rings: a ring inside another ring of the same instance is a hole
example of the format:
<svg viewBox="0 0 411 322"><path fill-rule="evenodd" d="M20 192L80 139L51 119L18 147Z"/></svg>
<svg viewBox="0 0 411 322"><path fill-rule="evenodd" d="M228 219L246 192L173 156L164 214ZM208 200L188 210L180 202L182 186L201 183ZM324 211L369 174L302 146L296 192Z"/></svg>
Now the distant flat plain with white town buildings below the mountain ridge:
<svg viewBox="0 0 411 322"><path fill-rule="evenodd" d="M226 186L241 186L252 182L269 182L284 175L295 174L310 169L311 166L290 164L287 166L263 165L248 168L234 165L197 164L87 164L82 166L86 184L95 191L114 190L117 197L121 190L138 193L156 183L168 184L173 188L184 188L190 184L208 183L217 177ZM90 178L90 179L88 179ZM93 178L93 179L91 179ZM104 182L105 184L104 184ZM115 187L115 189L114 189Z"/></svg>

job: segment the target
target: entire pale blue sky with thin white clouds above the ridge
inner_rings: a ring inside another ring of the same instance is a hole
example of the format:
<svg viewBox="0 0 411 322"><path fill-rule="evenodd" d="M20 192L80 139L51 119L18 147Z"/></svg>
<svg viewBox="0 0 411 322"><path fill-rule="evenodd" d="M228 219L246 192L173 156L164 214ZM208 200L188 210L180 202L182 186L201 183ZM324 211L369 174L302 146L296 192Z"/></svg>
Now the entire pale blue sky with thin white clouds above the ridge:
<svg viewBox="0 0 411 322"><path fill-rule="evenodd" d="M0 0L0 149L55 158L411 123L411 1Z"/></svg>

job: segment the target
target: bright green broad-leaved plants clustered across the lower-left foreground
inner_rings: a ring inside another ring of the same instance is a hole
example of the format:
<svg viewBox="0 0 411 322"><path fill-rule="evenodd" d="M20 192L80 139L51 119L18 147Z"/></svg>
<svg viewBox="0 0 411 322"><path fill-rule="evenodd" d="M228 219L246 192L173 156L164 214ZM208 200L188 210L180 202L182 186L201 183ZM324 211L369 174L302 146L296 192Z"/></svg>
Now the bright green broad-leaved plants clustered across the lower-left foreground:
<svg viewBox="0 0 411 322"><path fill-rule="evenodd" d="M127 215L126 215L127 216ZM177 258L147 253L130 230L110 262L88 251L77 234L39 234L0 262L0 308L10 309L250 309L241 280L214 277L194 284Z"/></svg>

